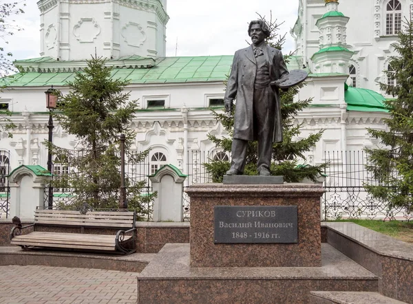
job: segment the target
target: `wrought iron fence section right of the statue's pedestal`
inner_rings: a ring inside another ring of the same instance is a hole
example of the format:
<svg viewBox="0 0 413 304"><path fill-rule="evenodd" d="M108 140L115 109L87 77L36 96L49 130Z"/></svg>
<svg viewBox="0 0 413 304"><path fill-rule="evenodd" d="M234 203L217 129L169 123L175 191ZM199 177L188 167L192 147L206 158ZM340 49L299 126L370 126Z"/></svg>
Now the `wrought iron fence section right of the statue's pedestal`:
<svg viewBox="0 0 413 304"><path fill-rule="evenodd" d="M330 162L321 204L324 219L413 219L405 208L389 208L387 202L374 199L366 191L364 184L379 184L366 170L366 156L364 151L324 153L324 160Z"/></svg>

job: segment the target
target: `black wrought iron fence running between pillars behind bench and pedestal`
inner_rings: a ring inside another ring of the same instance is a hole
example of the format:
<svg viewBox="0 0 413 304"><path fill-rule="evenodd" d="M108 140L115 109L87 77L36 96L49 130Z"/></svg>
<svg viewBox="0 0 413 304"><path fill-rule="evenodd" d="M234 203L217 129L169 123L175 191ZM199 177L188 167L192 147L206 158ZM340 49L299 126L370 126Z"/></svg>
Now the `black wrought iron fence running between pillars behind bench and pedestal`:
<svg viewBox="0 0 413 304"><path fill-rule="evenodd" d="M211 176L205 169L204 164L211 160L229 160L227 153L220 151L188 151L188 162L184 168L180 168L188 175L184 182L184 187L193 184L212 182ZM364 151L326 151L323 161L330 162L326 169L326 179L324 182L324 193L321 199L321 210L324 219L337 218L366 218L366 219L403 219L410 221L413 215L404 208L388 208L386 202L373 199L364 188L364 184L376 184L371 173L366 171L366 153ZM131 182L145 181L145 187L141 195L152 193L151 181L148 176L160 169L162 162L168 164L168 160L157 155L156 162L149 157L138 164L127 162L125 174ZM177 165L177 167L179 167ZM70 172L72 169L65 164L54 164L54 179L59 179L62 173ZM9 191L9 190L8 190ZM9 193L9 192L8 192ZM45 206L47 206L48 190L45 189ZM70 187L56 187L54 189L54 206L61 204L71 204L76 196ZM8 205L7 205L8 206ZM148 202L145 208L148 215L147 221L151 221L153 210L152 202ZM182 208L184 221L190 220L191 202L184 193L182 197Z"/></svg>

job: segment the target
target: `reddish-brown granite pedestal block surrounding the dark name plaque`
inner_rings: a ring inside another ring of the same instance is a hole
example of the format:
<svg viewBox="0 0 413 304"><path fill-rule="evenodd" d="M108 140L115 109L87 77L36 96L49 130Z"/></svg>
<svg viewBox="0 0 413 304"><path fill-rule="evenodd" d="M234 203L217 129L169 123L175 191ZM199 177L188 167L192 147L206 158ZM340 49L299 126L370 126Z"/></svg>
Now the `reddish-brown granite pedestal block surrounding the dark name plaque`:
<svg viewBox="0 0 413 304"><path fill-rule="evenodd" d="M191 267L321 266L321 186L198 184L186 191L191 197ZM297 206L297 243L215 243L215 206Z"/></svg>

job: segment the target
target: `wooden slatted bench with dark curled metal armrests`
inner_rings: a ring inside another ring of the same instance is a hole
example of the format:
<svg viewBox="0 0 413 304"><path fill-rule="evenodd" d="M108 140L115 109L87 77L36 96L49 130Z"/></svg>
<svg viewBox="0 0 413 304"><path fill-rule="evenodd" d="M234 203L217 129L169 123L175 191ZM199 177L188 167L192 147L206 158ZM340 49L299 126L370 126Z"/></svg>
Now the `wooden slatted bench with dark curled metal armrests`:
<svg viewBox="0 0 413 304"><path fill-rule="evenodd" d="M10 232L10 243L23 249L49 247L130 254L136 251L135 219L136 213L129 211L90 211L83 215L79 211L36 210L34 224L22 227L20 219L13 218L16 226ZM39 226L81 228L81 233L36 231ZM33 227L33 232L21 235L22 230L29 227ZM84 233L85 228L120 230L114 234L97 235Z"/></svg>

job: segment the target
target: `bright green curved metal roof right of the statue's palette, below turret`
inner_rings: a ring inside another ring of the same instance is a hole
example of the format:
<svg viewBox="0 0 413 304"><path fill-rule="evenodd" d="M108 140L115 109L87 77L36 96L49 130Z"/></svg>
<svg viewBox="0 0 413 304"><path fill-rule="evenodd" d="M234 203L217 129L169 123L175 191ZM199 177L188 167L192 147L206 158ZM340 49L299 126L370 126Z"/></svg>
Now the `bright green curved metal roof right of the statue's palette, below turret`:
<svg viewBox="0 0 413 304"><path fill-rule="evenodd" d="M347 87L344 92L348 111L388 112L383 101L385 98L370 89Z"/></svg>

